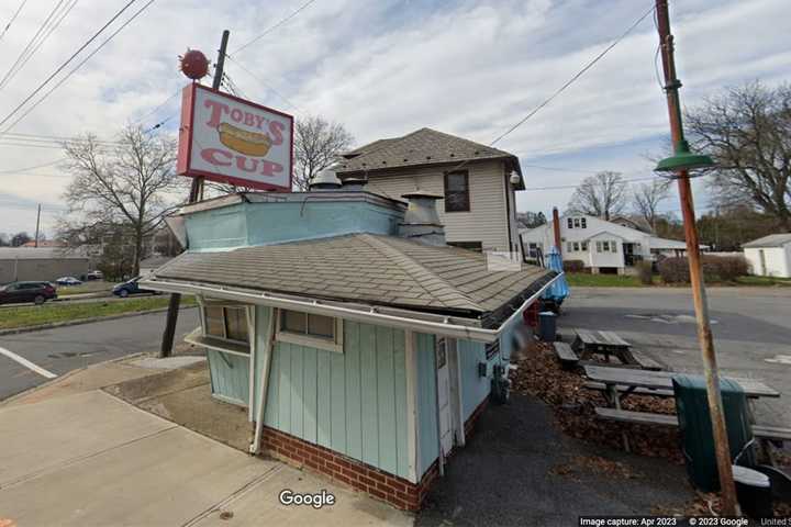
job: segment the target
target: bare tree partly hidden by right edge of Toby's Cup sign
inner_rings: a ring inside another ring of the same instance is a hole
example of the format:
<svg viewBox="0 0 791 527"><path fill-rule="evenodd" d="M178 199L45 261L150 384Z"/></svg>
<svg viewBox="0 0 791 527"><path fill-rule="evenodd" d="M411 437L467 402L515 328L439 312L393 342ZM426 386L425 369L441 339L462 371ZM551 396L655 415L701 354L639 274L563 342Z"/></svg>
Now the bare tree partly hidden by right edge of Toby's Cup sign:
<svg viewBox="0 0 791 527"><path fill-rule="evenodd" d="M297 121L294 128L294 186L308 190L317 172L333 165L339 153L354 142L352 134L339 123L331 123L314 115Z"/></svg>

